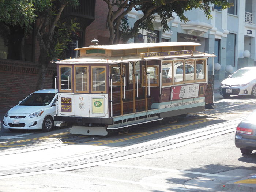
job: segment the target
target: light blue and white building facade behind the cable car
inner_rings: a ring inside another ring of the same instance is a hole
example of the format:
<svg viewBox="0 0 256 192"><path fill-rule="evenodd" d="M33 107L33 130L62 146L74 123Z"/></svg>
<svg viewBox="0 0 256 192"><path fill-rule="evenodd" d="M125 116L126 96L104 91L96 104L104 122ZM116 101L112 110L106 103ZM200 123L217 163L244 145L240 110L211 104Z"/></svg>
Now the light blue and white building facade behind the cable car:
<svg viewBox="0 0 256 192"><path fill-rule="evenodd" d="M175 19L169 20L171 31L165 33L159 16L155 15L154 31L142 29L136 39L128 42L198 42L201 45L196 46L197 51L216 55L214 60L208 60L209 74L213 72L213 63L219 63L220 70L214 71L215 79L224 79L237 69L256 64L256 0L229 0L229 3L234 6L223 10L212 5L209 20L199 9L184 13L187 23L173 15ZM132 10L127 15L130 26L142 15L141 11ZM243 56L245 50L251 53L248 58ZM227 65L232 66L231 71L226 71Z"/></svg>

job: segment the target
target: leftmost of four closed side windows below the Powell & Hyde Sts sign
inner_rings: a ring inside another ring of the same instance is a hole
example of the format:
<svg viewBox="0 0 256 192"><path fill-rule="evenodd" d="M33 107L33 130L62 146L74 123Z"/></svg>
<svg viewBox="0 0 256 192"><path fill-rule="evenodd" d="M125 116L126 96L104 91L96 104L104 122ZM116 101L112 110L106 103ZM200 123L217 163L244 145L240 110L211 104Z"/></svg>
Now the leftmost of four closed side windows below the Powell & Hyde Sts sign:
<svg viewBox="0 0 256 192"><path fill-rule="evenodd" d="M162 63L162 83L163 86L173 85L172 80L172 61Z"/></svg>

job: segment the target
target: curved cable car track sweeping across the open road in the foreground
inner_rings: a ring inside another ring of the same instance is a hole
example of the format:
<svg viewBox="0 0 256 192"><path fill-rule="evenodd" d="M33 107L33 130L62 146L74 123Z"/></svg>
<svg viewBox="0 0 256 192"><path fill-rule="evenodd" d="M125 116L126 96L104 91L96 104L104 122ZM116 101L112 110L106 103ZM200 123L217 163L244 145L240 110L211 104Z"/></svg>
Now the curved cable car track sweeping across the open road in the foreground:
<svg viewBox="0 0 256 192"><path fill-rule="evenodd" d="M52 170L63 171L73 170L83 167L99 165L120 161L122 159L139 157L145 154L152 154L159 151L168 150L184 146L202 139L233 132L237 124L243 118L219 123L189 132L177 133L164 138L149 140L143 143L132 144L124 147L117 147L102 150L97 153L72 156L68 158L56 159L52 162L30 163L22 166L0 167L0 179L6 177L23 176L24 174L41 174Z"/></svg>

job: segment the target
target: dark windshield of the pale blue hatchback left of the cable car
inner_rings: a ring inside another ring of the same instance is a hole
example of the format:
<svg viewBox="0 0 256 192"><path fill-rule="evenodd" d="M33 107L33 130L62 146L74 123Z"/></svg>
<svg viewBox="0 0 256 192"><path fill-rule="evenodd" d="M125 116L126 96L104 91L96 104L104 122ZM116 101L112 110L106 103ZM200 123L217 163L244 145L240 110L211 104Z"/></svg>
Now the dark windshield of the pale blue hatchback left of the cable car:
<svg viewBox="0 0 256 192"><path fill-rule="evenodd" d="M19 105L29 105L29 106L38 106L38 105L49 105L54 98L54 93L33 93L24 99Z"/></svg>

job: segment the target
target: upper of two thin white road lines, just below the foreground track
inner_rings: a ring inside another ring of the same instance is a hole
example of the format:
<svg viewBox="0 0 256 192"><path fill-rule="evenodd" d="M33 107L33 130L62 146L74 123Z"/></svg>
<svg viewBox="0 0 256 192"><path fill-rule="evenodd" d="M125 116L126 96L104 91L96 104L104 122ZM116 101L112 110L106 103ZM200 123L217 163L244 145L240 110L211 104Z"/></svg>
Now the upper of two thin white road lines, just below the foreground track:
<svg viewBox="0 0 256 192"><path fill-rule="evenodd" d="M181 173L191 173L191 174L205 175L205 176L215 176L215 177L229 177L227 175L218 175L218 174L210 174L210 173L202 173L202 172L184 171L184 170L179 170L179 169L165 169L165 168L158 168L158 167L142 167L142 166L117 165L117 164L101 164L101 166L124 167L124 168L133 168L133 169L147 169L147 170L157 170L157 171L166 171L166 172L181 172Z"/></svg>

